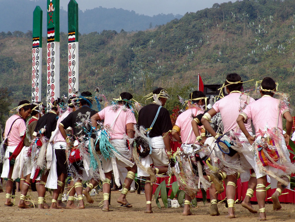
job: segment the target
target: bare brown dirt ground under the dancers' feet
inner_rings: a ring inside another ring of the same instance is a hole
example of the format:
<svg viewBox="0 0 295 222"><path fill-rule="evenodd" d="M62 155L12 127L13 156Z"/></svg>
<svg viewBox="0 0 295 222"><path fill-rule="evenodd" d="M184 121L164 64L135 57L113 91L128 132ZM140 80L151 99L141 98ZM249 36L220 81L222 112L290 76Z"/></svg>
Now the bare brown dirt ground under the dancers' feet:
<svg viewBox="0 0 295 222"><path fill-rule="evenodd" d="M19 202L20 192L16 193L15 206L5 207L5 192L0 193L0 221L75 221L75 222L85 222L85 221L153 221L153 222L171 222L171 221L238 221L238 222L248 222L257 221L258 214L252 214L243 208L240 204L236 204L236 217L234 219L224 218L227 214L227 209L224 208L224 204L218 204L220 211L220 216L212 217L209 215L209 203L205 206L202 201L198 201L198 206L192 208L191 216L182 216L183 208L164 208L159 209L155 200L152 201L153 211L152 214L143 213L145 209L145 195L137 195L137 193L128 193L127 200L134 206L132 209L122 209L119 208L119 204L116 202L120 195L119 191L112 192L110 209L113 211L102 212L101 207L98 206L99 202L102 200L102 193L100 192L96 197L94 197L94 203L86 203L86 208L82 210L68 210L68 209L20 209L17 207ZM31 192L31 195L37 200L37 192ZM46 195L49 195L47 192ZM51 196L46 198L47 203L51 203ZM85 197L84 197L84 201ZM161 203L161 200L160 200ZM163 205L163 204L162 204ZM255 209L258 210L258 205L253 205ZM295 221L295 206L293 204L282 204L282 210L273 211L272 205L266 205L267 219L269 221Z"/></svg>

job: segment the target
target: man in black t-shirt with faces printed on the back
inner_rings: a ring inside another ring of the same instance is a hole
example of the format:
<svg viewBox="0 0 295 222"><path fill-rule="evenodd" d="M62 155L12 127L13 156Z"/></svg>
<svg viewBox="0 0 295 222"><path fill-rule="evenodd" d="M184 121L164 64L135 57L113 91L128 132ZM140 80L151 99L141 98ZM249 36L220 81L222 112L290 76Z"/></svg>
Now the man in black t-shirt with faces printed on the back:
<svg viewBox="0 0 295 222"><path fill-rule="evenodd" d="M78 102L80 103L81 108L78 110L71 112L63 121L60 122L58 128L60 130L61 135L63 138L68 141L69 138L65 132L65 129L68 127L72 127L73 130L73 137L72 140L74 141L74 146L78 145L79 142L77 141L77 137L81 137L82 135L85 135L85 132L83 131L82 127L77 127L77 123L83 123L85 120L89 120L91 116L97 113L97 111L91 109L92 106L92 94L88 91L82 92L81 96L79 96ZM91 127L91 124L89 125ZM85 137L85 140L87 139L87 135ZM85 142L85 145L88 145L89 141ZM66 208L75 208L76 206L74 205L74 200L73 196L75 193L77 193L77 197L79 200L79 209L83 209L84 207L84 201L83 201L83 185L82 185L82 173L83 173L83 160L77 161L72 163L73 166L76 168L76 171L78 172L79 175L73 175L74 177L78 177L79 179L75 182L75 189L71 189L69 193L69 201L66 206ZM88 180L88 179L86 179ZM91 181L94 181L93 178L91 178ZM91 182L90 181L90 182Z"/></svg>

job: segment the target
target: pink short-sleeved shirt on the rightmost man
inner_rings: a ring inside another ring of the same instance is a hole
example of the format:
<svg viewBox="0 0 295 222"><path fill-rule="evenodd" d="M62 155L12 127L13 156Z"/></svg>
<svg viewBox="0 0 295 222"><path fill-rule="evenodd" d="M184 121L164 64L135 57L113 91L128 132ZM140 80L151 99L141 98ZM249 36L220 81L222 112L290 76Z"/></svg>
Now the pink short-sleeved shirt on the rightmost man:
<svg viewBox="0 0 295 222"><path fill-rule="evenodd" d="M266 127L269 129L278 127L281 134L283 134L281 115L286 111L289 111L286 103L271 96L263 96L249 104L243 112L247 115L247 118L252 119L256 135L259 135L259 129L264 132L266 131Z"/></svg>

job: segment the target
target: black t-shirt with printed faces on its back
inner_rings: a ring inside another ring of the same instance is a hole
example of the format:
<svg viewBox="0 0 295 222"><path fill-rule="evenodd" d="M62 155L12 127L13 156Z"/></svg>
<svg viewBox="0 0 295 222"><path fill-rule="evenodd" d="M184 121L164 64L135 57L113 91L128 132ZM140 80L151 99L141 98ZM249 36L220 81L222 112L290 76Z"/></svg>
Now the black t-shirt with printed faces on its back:
<svg viewBox="0 0 295 222"><path fill-rule="evenodd" d="M63 121L61 121L61 124L63 124L63 127L67 129L68 127L72 127L73 129L73 135L79 137L81 135L85 135L82 127L77 128L77 123L84 122L85 120L90 120L91 116L96 114L97 111L91 109L89 106L82 106L80 109L71 112Z"/></svg>

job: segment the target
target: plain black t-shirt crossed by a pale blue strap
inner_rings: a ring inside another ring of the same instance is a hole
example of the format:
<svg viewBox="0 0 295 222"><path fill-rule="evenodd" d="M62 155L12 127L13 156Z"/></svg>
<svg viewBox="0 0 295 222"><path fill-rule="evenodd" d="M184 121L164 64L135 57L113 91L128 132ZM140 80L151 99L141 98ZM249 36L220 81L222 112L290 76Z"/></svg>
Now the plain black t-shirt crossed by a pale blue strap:
<svg viewBox="0 0 295 222"><path fill-rule="evenodd" d="M143 126L145 129L150 128L157 114L159 105L151 103L141 108L138 114L138 126ZM163 133L172 129L172 123L169 112L166 108L160 109L159 115L155 121L153 128L149 133L149 137L162 136Z"/></svg>

